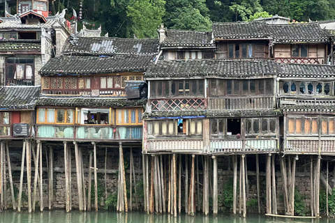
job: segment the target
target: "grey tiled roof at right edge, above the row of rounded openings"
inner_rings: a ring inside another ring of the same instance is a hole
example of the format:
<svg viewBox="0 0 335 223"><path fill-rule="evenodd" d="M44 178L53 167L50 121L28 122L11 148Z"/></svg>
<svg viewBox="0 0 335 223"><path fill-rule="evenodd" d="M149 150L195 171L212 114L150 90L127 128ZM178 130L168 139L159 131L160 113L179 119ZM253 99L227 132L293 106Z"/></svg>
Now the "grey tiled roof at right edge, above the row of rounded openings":
<svg viewBox="0 0 335 223"><path fill-rule="evenodd" d="M283 63L278 77L329 78L335 77L335 66L325 64Z"/></svg>

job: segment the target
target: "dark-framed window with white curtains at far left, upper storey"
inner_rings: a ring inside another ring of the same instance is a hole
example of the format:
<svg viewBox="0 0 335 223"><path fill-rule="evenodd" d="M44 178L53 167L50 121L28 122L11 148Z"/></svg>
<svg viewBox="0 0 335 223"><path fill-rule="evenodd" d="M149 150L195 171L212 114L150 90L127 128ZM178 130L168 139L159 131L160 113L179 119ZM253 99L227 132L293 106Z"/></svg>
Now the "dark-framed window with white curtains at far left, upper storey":
<svg viewBox="0 0 335 223"><path fill-rule="evenodd" d="M34 82L33 57L8 57L6 59L6 79Z"/></svg>

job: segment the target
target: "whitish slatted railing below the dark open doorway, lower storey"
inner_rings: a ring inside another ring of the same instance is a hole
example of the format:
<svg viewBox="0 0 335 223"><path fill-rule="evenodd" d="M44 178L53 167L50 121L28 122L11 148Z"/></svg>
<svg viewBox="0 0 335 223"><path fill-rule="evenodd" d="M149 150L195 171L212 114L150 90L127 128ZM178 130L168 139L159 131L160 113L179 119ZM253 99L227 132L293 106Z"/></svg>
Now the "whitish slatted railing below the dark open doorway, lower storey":
<svg viewBox="0 0 335 223"><path fill-rule="evenodd" d="M277 139L211 139L211 153L276 152Z"/></svg>

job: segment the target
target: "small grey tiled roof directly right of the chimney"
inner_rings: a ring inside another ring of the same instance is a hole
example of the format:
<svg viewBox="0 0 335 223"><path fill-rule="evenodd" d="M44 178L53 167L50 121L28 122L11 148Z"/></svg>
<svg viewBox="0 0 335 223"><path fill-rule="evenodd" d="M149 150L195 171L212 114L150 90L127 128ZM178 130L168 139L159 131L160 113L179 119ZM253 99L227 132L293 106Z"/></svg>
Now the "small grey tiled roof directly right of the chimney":
<svg viewBox="0 0 335 223"><path fill-rule="evenodd" d="M168 29L162 47L215 47L215 45L211 32Z"/></svg>

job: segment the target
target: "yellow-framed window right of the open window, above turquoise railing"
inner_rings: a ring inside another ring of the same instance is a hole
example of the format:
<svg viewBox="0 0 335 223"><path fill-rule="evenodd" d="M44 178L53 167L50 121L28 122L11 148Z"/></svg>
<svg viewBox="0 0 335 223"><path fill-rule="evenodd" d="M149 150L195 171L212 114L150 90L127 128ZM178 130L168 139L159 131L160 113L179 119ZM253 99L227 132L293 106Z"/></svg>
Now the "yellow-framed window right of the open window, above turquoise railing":
<svg viewBox="0 0 335 223"><path fill-rule="evenodd" d="M142 125L142 108L117 109L117 125Z"/></svg>

